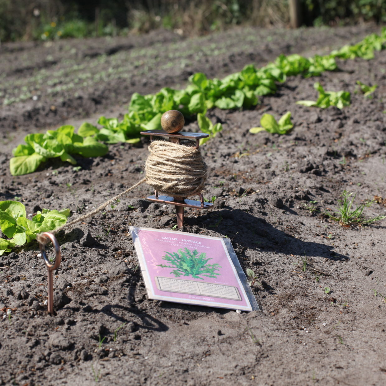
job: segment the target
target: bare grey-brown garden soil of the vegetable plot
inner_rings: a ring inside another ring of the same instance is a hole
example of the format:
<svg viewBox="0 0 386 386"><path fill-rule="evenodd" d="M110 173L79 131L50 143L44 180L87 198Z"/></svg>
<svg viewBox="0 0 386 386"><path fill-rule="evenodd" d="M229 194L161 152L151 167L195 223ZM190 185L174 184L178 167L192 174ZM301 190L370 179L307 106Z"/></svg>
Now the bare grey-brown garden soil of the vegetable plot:
<svg viewBox="0 0 386 386"><path fill-rule="evenodd" d="M85 118L95 124L99 115L125 113L133 92L183 87L196 71L222 77L280 53L326 53L373 31L379 27L239 28L191 40L157 31L4 44L0 97L9 104L0 110L0 199L18 197L27 214L68 207L76 215L143 176L145 138L136 147L110 146L105 157L79 157L80 170L54 160L12 177L11 149L27 132ZM339 71L288 78L251 110L208 112L224 127L201 148L206 197L215 205L186 210L183 230L232 240L244 271L257 276L260 311L147 299L128 225L171 229L176 217L174 207L146 201L152 190L141 185L58 234L55 315L44 304L47 273L37 243L0 257L0 384L385 384L386 220L342 227L323 213L335 210L343 190L357 203L386 197L386 51L338 62ZM372 98L355 93L357 80L378 84ZM351 105L296 105L317 98L315 81L350 91ZM21 91L31 97L20 99ZM262 113L278 119L288 110L290 134L249 133ZM386 214L378 201L365 208L367 216Z"/></svg>

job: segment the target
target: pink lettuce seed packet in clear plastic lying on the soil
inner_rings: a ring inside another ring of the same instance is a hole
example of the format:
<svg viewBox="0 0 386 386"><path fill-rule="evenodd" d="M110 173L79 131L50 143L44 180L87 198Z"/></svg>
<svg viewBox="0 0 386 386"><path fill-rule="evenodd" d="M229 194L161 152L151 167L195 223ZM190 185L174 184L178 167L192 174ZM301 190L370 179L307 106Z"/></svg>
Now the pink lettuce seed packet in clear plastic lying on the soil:
<svg viewBox="0 0 386 386"><path fill-rule="evenodd" d="M229 239L129 227L150 299L259 310Z"/></svg>

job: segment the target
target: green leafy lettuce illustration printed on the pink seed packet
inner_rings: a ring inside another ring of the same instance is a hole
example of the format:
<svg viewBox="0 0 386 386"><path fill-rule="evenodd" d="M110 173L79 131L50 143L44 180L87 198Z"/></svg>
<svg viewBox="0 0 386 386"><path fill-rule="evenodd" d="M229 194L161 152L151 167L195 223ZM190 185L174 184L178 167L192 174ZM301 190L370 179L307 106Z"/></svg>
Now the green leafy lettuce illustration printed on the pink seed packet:
<svg viewBox="0 0 386 386"><path fill-rule="evenodd" d="M207 254L205 252L198 252L196 249L190 251L188 248L184 250L179 249L177 252L166 252L166 255L163 256L163 259L169 262L169 265L158 264L162 268L175 268L171 271L176 278L179 276L191 276L195 279L201 279L200 276L207 276L208 278L216 278L220 274L215 272L219 271L221 268L218 264L207 264L209 260L207 259Z"/></svg>

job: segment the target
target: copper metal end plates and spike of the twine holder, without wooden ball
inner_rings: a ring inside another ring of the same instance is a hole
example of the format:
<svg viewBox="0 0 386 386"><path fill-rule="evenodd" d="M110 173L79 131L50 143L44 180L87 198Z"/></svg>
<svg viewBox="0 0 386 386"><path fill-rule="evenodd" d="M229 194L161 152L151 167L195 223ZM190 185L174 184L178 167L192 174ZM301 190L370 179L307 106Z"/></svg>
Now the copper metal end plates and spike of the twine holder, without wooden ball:
<svg viewBox="0 0 386 386"><path fill-rule="evenodd" d="M196 141L195 149L200 148L200 139L209 137L209 134L204 133L189 133L180 131L178 133L168 133L164 130L146 130L141 131L142 135L150 135L150 140L153 140L154 136L159 137L169 137L170 142L181 143L181 139L187 139L189 141ZM176 208L177 215L177 227L181 229L184 224L184 208L194 208L194 209L207 209L213 206L213 203L204 202L202 194L199 194L200 201L188 200L187 198L180 196L159 196L158 192L154 191L154 196L149 196L146 199L149 201L171 204Z"/></svg>

